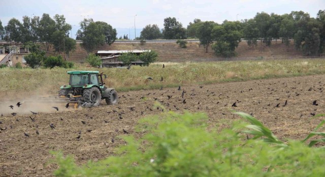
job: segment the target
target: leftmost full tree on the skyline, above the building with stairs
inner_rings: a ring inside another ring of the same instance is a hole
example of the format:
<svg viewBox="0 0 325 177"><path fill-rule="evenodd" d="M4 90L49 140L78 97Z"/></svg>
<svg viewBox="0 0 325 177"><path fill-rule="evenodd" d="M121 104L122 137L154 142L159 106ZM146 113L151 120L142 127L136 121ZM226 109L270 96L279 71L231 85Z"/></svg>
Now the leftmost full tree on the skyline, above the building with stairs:
<svg viewBox="0 0 325 177"><path fill-rule="evenodd" d="M21 33L22 24L19 20L12 18L9 20L8 25L5 26L7 39L14 40L16 42L22 41Z"/></svg>

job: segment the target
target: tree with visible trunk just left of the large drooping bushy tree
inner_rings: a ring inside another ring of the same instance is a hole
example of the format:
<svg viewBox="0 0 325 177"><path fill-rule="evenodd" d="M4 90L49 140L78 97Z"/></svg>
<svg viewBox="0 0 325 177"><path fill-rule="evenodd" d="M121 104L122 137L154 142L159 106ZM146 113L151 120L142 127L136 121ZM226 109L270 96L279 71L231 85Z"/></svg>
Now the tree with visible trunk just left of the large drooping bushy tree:
<svg viewBox="0 0 325 177"><path fill-rule="evenodd" d="M197 24L196 36L200 40L200 45L203 45L206 48L206 53L208 53L208 48L213 43L212 29L216 24L212 21Z"/></svg>

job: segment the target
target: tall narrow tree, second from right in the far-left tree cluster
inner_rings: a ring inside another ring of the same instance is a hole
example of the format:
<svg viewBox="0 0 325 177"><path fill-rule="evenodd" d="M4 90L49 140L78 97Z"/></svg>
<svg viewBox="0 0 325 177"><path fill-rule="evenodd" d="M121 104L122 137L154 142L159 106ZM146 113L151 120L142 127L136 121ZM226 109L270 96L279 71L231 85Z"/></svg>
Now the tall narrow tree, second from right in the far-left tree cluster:
<svg viewBox="0 0 325 177"><path fill-rule="evenodd" d="M52 34L55 30L55 21L50 17L49 14L43 14L38 25L38 35L42 41L46 42L46 51L49 50L49 43L53 39Z"/></svg>

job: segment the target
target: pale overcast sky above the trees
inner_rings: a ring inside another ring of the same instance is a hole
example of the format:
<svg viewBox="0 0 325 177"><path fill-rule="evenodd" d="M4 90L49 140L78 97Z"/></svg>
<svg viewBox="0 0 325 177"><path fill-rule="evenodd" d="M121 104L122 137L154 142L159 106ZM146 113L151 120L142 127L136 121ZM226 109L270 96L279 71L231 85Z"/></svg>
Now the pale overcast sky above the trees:
<svg viewBox="0 0 325 177"><path fill-rule="evenodd" d="M257 12L262 11L279 15L291 11L304 11L311 17L316 17L318 10L325 10L325 0L29 0L13 2L0 0L0 20L3 26L6 26L11 18L22 21L24 15L41 17L43 13L47 13L53 17L59 14L66 17L67 23L76 25L73 26L73 34L79 29L79 22L83 18L104 21L113 28L125 29L133 29L136 21L136 29L140 32L148 24L157 24L159 28L163 28L164 18L167 17L175 17L186 27L195 18L222 23L223 20L250 19Z"/></svg>

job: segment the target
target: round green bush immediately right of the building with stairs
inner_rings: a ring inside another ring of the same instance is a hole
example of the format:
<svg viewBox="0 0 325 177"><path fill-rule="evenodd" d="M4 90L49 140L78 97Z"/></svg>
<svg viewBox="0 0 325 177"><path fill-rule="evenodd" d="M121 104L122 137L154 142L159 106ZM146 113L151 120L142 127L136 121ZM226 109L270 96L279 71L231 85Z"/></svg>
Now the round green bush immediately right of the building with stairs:
<svg viewBox="0 0 325 177"><path fill-rule="evenodd" d="M45 52L40 50L40 45L37 45L36 43L26 43L25 45L29 46L29 52L30 54L25 56L26 65L28 65L31 68L37 68L42 65L42 62L46 58Z"/></svg>

